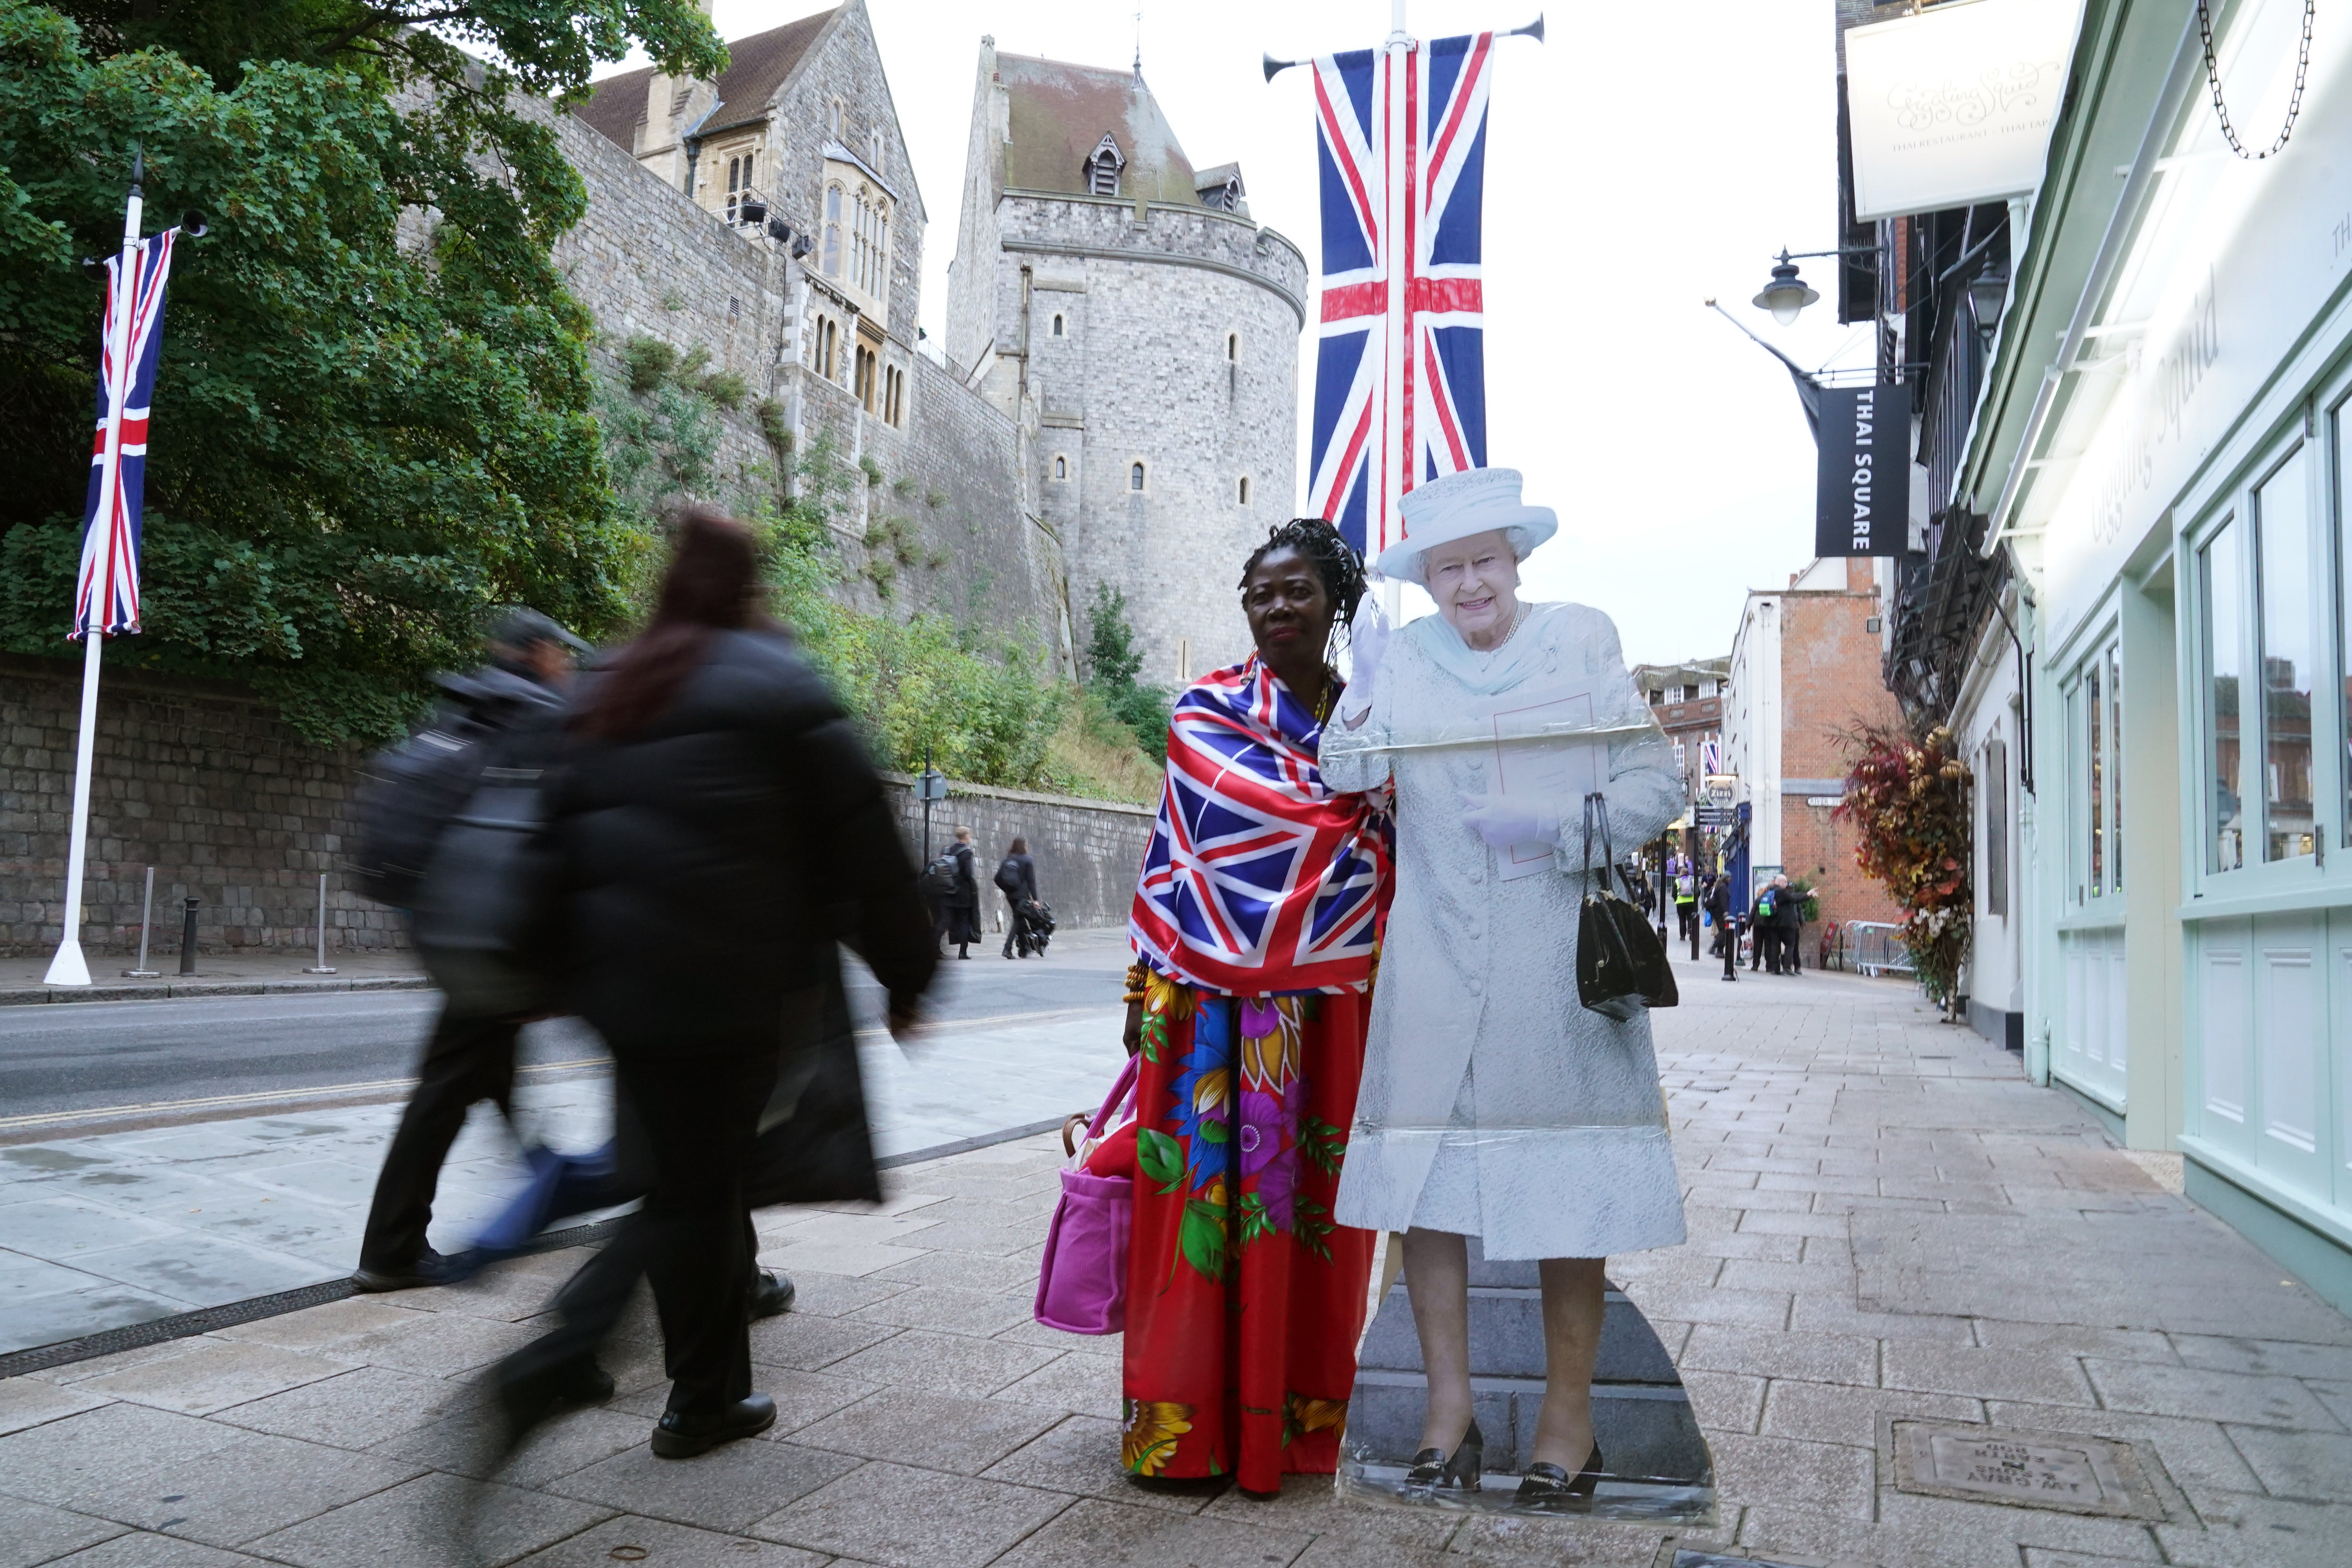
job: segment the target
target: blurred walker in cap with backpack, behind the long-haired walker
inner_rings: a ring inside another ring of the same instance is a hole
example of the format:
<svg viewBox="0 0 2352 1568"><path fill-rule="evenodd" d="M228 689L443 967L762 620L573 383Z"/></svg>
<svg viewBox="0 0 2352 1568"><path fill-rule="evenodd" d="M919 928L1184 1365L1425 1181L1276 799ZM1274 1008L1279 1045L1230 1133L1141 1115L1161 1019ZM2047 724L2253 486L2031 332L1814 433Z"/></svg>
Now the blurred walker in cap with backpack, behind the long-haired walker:
<svg viewBox="0 0 2352 1568"><path fill-rule="evenodd" d="M480 940L477 884L506 877L524 851L560 748L562 691L588 644L517 607L496 616L487 651L480 670L437 677L445 701L433 722L374 757L362 785L355 882L409 912L416 954L445 999L376 1178L353 1274L360 1291L449 1276L449 1260L426 1244L442 1159L475 1100L513 1121L515 1037L546 1011L517 954Z"/></svg>

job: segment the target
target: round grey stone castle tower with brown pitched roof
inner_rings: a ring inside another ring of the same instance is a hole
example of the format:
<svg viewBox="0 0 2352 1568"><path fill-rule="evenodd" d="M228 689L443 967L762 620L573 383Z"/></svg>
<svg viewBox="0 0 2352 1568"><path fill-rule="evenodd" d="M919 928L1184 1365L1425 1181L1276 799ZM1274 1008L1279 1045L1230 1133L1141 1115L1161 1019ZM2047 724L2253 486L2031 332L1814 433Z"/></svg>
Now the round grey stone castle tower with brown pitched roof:
<svg viewBox="0 0 2352 1568"><path fill-rule="evenodd" d="M1070 599L1127 595L1145 679L1249 654L1242 559L1291 512L1308 261L1195 169L1141 68L981 40L948 357L1035 421Z"/></svg>

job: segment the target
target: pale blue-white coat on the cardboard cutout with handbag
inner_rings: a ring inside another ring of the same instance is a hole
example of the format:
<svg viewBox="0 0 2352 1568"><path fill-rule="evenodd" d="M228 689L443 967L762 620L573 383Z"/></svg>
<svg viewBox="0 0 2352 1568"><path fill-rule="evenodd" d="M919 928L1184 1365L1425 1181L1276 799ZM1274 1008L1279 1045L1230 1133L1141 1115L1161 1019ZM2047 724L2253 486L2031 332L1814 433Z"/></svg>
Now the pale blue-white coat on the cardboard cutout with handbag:
<svg viewBox="0 0 2352 1568"><path fill-rule="evenodd" d="M1684 1239L1649 1016L1616 1023L1576 999L1581 802L1550 802L1557 867L1505 882L1498 851L1463 825L1461 797L1494 790L1491 750L1430 745L1463 736L1479 698L1548 679L1616 693L1595 715L1618 731L1609 823L1621 853L1656 837L1682 806L1679 780L1616 625L1583 604L1529 604L1494 654L1442 616L1406 625L1362 726L1322 736L1324 783L1397 795L1397 891L1336 1218L1475 1234L1496 1260Z"/></svg>

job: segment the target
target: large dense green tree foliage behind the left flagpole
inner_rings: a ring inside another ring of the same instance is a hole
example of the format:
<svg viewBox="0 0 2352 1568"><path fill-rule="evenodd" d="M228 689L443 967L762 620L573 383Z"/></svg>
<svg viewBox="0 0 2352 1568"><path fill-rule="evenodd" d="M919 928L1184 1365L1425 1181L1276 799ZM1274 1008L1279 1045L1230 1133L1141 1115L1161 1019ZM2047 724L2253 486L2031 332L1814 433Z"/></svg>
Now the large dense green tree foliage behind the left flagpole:
<svg viewBox="0 0 2352 1568"><path fill-rule="evenodd" d="M694 0L0 0L0 646L66 646L80 259L120 244L134 143L148 230L212 233L174 259L146 635L111 658L372 741L489 604L614 628L652 541L612 503L590 322L548 259L586 193L510 94L579 92L630 42L724 66Z"/></svg>

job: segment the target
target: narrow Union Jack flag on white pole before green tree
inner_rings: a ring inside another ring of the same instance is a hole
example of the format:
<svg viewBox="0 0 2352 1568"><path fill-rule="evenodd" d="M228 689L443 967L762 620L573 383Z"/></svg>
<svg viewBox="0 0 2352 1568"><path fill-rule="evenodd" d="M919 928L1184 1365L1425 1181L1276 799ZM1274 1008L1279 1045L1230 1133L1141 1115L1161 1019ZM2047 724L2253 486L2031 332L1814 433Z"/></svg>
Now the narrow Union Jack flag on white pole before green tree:
<svg viewBox="0 0 2352 1568"><path fill-rule="evenodd" d="M73 639L92 623L106 637L139 630L139 517L146 501L148 404L162 353L162 287L176 228L106 259L106 331L99 346L99 440L89 454L82 512L82 571L73 588ZM127 320L125 320L127 317ZM125 348L127 346L127 348ZM106 449L108 414L122 404L122 433ZM99 581L103 559L106 581Z"/></svg>

